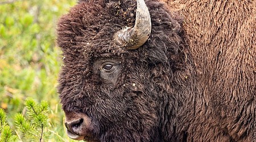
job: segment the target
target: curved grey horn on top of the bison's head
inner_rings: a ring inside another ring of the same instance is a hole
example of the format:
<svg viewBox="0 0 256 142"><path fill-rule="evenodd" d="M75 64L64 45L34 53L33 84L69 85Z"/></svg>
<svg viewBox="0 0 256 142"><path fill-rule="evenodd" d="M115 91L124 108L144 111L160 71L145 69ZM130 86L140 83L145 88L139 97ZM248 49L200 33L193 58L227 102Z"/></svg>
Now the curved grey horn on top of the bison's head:
<svg viewBox="0 0 256 142"><path fill-rule="evenodd" d="M144 0L137 0L134 27L125 27L115 34L115 40L127 49L137 49L146 43L151 32L150 13Z"/></svg>

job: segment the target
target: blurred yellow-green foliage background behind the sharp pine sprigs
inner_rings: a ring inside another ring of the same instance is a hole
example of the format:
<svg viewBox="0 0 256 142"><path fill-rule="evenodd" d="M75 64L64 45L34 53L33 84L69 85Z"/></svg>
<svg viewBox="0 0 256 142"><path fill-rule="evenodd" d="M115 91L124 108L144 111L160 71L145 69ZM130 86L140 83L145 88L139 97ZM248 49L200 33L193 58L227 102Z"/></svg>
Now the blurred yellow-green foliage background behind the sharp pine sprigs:
<svg viewBox="0 0 256 142"><path fill-rule="evenodd" d="M0 107L14 128L24 100L49 103L51 135L44 141L72 141L65 135L64 113L56 93L61 51L56 24L76 0L0 0Z"/></svg>

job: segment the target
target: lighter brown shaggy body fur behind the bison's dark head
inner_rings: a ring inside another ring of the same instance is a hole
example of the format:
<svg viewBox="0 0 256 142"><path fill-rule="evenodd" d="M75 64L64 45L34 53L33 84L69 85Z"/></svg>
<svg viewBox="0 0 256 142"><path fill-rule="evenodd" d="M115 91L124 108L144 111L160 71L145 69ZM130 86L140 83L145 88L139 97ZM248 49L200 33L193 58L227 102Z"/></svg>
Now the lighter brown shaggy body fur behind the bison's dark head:
<svg viewBox="0 0 256 142"><path fill-rule="evenodd" d="M167 3L185 17L196 67L187 140L256 141L256 1Z"/></svg>

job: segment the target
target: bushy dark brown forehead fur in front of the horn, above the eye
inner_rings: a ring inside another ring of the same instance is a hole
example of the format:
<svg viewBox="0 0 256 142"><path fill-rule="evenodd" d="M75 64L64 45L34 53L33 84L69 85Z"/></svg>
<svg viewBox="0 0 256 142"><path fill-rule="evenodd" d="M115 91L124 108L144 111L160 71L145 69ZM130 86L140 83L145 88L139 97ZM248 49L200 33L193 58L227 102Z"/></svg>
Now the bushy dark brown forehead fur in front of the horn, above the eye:
<svg viewBox="0 0 256 142"><path fill-rule="evenodd" d="M114 33L122 27L132 27L135 22L135 1L122 2L126 4L120 1L78 3L60 19L57 29L59 46L64 52L69 51L68 48L85 49L91 45L99 52L115 47Z"/></svg>

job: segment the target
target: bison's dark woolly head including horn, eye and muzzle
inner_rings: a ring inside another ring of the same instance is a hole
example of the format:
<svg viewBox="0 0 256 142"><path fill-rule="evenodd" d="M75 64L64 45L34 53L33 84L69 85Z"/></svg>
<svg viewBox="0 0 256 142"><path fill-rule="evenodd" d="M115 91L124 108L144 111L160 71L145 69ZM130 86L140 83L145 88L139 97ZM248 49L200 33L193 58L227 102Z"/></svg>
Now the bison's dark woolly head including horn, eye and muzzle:
<svg viewBox="0 0 256 142"><path fill-rule="evenodd" d="M58 91L72 139L159 141L173 123L166 118L184 80L175 77L185 62L182 21L161 2L146 4L80 1L60 19Z"/></svg>

